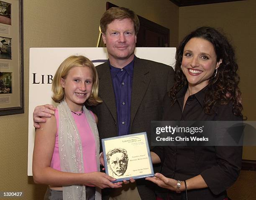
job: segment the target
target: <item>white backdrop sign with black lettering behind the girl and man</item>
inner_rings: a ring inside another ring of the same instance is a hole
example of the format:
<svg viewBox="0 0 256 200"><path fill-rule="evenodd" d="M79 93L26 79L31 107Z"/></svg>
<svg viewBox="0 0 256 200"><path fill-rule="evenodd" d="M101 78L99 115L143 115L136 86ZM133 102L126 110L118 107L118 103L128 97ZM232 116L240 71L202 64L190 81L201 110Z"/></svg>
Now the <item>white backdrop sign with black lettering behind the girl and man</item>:
<svg viewBox="0 0 256 200"><path fill-rule="evenodd" d="M140 58L174 66L176 48L139 47L135 55ZM63 60L70 55L84 55L95 66L108 60L106 48L31 48L29 56L29 113L28 113L28 175L32 175L32 155L35 128L33 110L37 105L54 104L51 100L51 83Z"/></svg>

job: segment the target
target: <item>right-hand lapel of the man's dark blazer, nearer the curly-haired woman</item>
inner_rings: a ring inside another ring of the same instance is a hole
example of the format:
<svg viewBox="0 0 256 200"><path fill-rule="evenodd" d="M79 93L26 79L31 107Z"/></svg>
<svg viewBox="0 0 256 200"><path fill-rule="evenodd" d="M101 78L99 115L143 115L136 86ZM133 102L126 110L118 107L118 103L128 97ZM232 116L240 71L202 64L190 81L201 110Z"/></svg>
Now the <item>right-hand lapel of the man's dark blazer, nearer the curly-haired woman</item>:
<svg viewBox="0 0 256 200"><path fill-rule="evenodd" d="M146 65L143 65L141 59L136 57L133 69L133 88L131 95L131 127L136 115L136 112L141 105L141 101L148 88L150 82L149 70Z"/></svg>

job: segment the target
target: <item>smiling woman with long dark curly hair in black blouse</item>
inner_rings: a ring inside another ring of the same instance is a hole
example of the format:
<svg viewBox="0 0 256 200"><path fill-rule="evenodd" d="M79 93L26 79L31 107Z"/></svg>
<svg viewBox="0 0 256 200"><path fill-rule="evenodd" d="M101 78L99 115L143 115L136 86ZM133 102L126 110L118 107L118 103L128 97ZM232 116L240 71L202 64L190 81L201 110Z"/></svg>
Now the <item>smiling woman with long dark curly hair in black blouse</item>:
<svg viewBox="0 0 256 200"><path fill-rule="evenodd" d="M174 87L164 97L164 121L242 120L233 47L214 28L187 35L176 52ZM161 173L146 178L162 188L159 199L225 200L241 170L242 147L164 146L151 152Z"/></svg>

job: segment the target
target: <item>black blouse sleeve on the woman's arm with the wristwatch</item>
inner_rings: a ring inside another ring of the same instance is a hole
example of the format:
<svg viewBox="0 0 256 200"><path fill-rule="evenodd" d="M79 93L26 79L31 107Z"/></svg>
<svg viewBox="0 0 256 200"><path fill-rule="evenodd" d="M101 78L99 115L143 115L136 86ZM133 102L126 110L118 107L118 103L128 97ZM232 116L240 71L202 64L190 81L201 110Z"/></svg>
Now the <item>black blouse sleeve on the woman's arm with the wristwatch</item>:
<svg viewBox="0 0 256 200"><path fill-rule="evenodd" d="M242 117L232 113L232 105L218 109L218 121L241 121ZM229 188L239 176L242 163L242 146L215 146L217 165L201 173L209 189L218 195Z"/></svg>

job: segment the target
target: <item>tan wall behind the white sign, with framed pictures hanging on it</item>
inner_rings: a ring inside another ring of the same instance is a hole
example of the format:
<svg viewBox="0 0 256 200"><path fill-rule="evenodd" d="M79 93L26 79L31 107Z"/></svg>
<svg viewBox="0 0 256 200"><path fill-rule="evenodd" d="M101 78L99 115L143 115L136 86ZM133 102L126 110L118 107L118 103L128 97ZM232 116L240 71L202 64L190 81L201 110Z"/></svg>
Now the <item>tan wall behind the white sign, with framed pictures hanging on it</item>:
<svg viewBox="0 0 256 200"><path fill-rule="evenodd" d="M111 2L169 28L170 46L177 45L179 7L169 0ZM1 191L21 191L19 199L40 200L46 190L27 176L29 48L95 47L105 6L105 0L23 0L25 113L0 117Z"/></svg>

